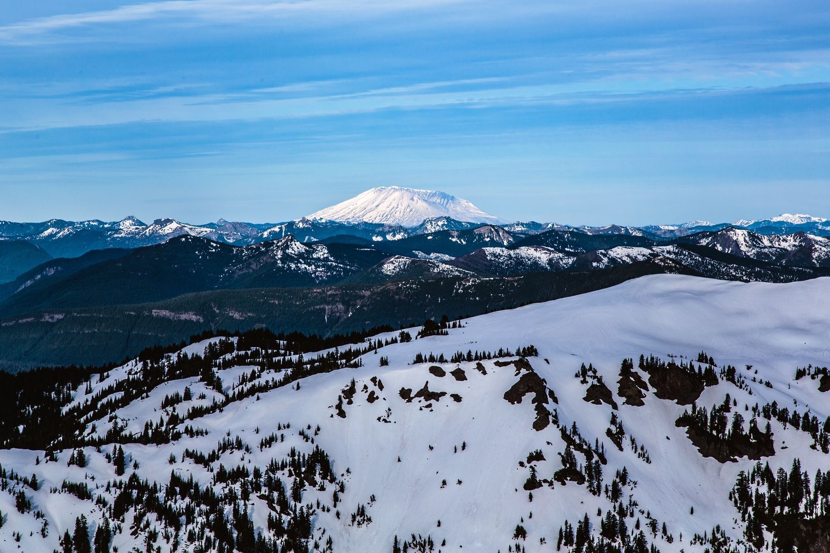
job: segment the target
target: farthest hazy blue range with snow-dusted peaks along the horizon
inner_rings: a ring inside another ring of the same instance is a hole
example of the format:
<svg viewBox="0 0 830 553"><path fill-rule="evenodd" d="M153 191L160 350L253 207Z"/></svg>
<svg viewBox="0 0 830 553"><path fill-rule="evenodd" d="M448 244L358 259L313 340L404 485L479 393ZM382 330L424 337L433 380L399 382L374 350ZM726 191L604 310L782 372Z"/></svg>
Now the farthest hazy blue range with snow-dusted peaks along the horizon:
<svg viewBox="0 0 830 553"><path fill-rule="evenodd" d="M740 223L740 225L738 224ZM374 222L328 221L301 218L283 223L245 223L219 220L204 225L189 225L173 219L157 219L145 224L133 216L121 221L63 221L52 219L38 223L17 223L0 221L0 283L15 279L37 264L50 258L78 257L92 250L106 248L139 248L154 245L171 238L189 235L231 245L251 245L279 240L288 235L300 242L352 241L393 242L409 240L409 243L423 242L417 238L442 230L471 230L481 226L475 221L460 221L450 216L427 218L415 226ZM556 223L520 221L498 226L505 236L494 239L502 245L537 235L549 230L568 230L583 235L629 235L640 236L654 241L674 240L699 232L716 233L730 227L737 230L752 230L755 235L830 235L830 221L813 216L778 216L759 221L737 221L734 224L710 224L693 221L681 225L662 226L566 226ZM491 234L495 225L487 226ZM801 239L803 240L803 239ZM26 244L24 244L24 242ZM32 247L34 246L34 247ZM410 250L408 245L396 245L389 250ZM417 248L412 248L417 250ZM430 248L425 247L425 250ZM462 248L463 249L463 248ZM429 253L429 252L427 252ZM452 254L451 254L452 255Z"/></svg>

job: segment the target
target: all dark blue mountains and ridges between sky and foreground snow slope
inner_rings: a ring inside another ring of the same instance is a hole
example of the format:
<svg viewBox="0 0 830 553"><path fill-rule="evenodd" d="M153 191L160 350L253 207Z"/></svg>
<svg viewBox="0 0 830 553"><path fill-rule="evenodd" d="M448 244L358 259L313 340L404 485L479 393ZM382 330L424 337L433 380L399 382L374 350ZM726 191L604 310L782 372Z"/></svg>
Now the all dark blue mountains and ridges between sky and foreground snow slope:
<svg viewBox="0 0 830 553"><path fill-rule="evenodd" d="M383 197L385 212L406 211L393 208L397 192ZM827 219L738 222L496 225L447 215L414 226L311 217L206 225L172 219L148 225L135 217L0 221L0 327L9 340L0 341L0 366L100 362L106 358L66 356L105 341L106 351L134 352L162 336L178 339L175 332L217 325L339 332L417 323L450 306L456 315L485 313L642 274L764 282L830 275ZM180 321L171 334L158 333L164 313ZM121 327L119 321L134 318L133 326Z"/></svg>

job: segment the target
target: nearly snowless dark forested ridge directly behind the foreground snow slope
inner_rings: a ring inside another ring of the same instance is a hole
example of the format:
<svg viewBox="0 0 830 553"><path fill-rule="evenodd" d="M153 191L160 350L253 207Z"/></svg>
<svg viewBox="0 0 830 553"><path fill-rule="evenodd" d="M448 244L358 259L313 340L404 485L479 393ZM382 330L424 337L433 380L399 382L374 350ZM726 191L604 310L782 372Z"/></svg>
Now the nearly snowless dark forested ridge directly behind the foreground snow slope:
<svg viewBox="0 0 830 553"><path fill-rule="evenodd" d="M178 344L205 329L266 327L334 337L376 325L420 325L447 313L451 320L608 288L666 267L640 262L611 269L525 274L496 279L437 279L401 283L317 286L309 289L242 289L192 293L159 303L76 306L45 322L38 315L4 320L0 368L103 365L135 357L155 344ZM671 268L671 272L677 270ZM689 271L691 272L691 271ZM336 309L331 309L335 307ZM188 313L165 318L154 313ZM246 313L243 319L238 313ZM236 315L236 316L235 316ZM210 332L208 330L208 332ZM326 338L322 338L326 339Z"/></svg>

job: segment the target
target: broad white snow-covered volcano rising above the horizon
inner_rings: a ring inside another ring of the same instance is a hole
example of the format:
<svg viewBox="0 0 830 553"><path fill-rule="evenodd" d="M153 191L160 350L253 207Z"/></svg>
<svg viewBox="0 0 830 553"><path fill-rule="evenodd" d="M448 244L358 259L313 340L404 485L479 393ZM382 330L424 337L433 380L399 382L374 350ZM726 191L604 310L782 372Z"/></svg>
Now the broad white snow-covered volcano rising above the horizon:
<svg viewBox="0 0 830 553"><path fill-rule="evenodd" d="M403 187L372 188L349 200L315 211L309 218L417 226L425 219L442 216L472 223L504 222L481 211L470 201L446 192Z"/></svg>

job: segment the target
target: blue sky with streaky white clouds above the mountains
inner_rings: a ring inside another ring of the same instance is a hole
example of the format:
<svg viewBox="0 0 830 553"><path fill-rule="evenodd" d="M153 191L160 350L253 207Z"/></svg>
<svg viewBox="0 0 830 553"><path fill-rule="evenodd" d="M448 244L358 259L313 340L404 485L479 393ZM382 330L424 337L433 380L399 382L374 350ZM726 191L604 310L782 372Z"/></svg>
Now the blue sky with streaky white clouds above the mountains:
<svg viewBox="0 0 830 553"><path fill-rule="evenodd" d="M0 219L830 216L830 3L0 0Z"/></svg>

